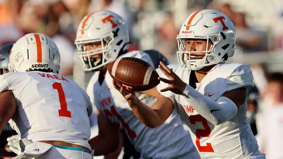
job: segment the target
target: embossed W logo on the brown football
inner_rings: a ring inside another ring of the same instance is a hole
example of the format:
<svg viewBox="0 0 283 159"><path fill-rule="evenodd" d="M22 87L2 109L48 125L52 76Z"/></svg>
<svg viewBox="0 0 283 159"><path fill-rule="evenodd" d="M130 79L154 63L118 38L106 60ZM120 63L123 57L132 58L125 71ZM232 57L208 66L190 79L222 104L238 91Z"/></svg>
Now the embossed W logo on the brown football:
<svg viewBox="0 0 283 159"><path fill-rule="evenodd" d="M121 77L123 79L128 79L129 81L134 81L139 75L139 69L135 67L130 67L127 65L122 65Z"/></svg>

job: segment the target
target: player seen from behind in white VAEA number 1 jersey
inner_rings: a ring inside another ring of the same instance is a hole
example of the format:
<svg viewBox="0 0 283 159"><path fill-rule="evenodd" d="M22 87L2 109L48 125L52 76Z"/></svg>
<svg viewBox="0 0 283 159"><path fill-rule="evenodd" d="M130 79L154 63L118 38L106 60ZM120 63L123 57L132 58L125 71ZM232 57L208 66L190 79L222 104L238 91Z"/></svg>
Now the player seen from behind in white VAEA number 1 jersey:
<svg viewBox="0 0 283 159"><path fill-rule="evenodd" d="M10 72L0 76L0 132L9 121L25 139L15 143L22 148L16 158L93 158L88 143L92 105L83 89L58 75L60 54L54 41L27 34L9 56Z"/></svg>

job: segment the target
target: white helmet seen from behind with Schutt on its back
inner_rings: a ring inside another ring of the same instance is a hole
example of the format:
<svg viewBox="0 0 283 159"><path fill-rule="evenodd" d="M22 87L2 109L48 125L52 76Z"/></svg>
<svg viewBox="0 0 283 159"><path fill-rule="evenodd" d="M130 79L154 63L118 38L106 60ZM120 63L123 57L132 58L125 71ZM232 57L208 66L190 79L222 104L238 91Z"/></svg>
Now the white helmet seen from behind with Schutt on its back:
<svg viewBox="0 0 283 159"><path fill-rule="evenodd" d="M10 72L38 70L59 73L60 54L55 42L40 33L20 38L10 52Z"/></svg>

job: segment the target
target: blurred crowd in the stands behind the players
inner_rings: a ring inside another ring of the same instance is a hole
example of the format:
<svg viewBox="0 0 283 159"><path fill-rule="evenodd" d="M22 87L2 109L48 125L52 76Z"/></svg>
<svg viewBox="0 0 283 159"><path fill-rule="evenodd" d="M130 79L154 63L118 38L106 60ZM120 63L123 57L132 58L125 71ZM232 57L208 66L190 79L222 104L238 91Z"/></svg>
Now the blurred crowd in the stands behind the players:
<svg viewBox="0 0 283 159"><path fill-rule="evenodd" d="M85 15L101 9L129 25L131 50L156 49L171 63L180 26L190 13L216 9L236 27L236 51L228 62L251 67L256 87L248 90L248 120L267 158L283 158L283 1L282 0L0 0L0 47L27 33L43 33L57 44L60 75L83 89L93 74L78 63L74 40ZM274 156L273 156L274 155Z"/></svg>

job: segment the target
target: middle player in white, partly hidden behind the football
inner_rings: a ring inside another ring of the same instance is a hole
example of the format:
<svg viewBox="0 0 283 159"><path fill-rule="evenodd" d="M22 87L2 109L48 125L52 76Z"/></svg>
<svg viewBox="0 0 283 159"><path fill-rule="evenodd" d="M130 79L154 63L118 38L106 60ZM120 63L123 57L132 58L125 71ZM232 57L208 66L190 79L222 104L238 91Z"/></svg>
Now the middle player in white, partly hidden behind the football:
<svg viewBox="0 0 283 159"><path fill-rule="evenodd" d="M87 87L92 104L120 128L136 151L140 152L140 158L198 158L189 133L184 130L175 111L158 128L147 128L136 118L123 96L113 88L107 66L116 58L137 57L153 65L150 56L143 51L127 53L128 43L126 21L111 11L93 12L81 21L75 44L83 69L96 71ZM138 93L138 97L151 105L157 96Z"/></svg>

